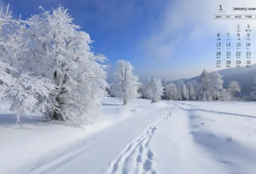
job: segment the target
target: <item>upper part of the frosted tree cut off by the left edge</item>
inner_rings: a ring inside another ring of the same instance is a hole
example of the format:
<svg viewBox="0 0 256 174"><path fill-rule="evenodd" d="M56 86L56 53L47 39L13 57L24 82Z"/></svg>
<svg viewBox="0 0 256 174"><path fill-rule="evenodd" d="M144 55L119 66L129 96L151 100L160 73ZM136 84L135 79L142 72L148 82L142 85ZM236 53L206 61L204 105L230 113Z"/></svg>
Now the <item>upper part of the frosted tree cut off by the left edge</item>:
<svg viewBox="0 0 256 174"><path fill-rule="evenodd" d="M14 67L18 59L26 53L24 40L24 25L22 20L12 19L12 12L9 12L9 5L6 12L0 10L0 84L1 94L6 91L6 85L12 86L20 73ZM16 66L17 67L17 66ZM2 96L1 96L2 97Z"/></svg>

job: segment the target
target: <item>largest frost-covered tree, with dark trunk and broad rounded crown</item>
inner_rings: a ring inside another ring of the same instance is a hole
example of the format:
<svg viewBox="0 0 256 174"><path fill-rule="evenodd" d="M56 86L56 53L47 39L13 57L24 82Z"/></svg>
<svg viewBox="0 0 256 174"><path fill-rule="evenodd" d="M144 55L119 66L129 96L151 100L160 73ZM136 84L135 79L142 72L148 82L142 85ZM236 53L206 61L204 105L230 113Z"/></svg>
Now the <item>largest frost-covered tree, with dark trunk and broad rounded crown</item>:
<svg viewBox="0 0 256 174"><path fill-rule="evenodd" d="M61 6L29 18L29 54L20 67L57 86L44 100L54 106L46 109L45 118L92 123L107 95L106 67L101 65L106 58L90 51L90 36L72 20Z"/></svg>

